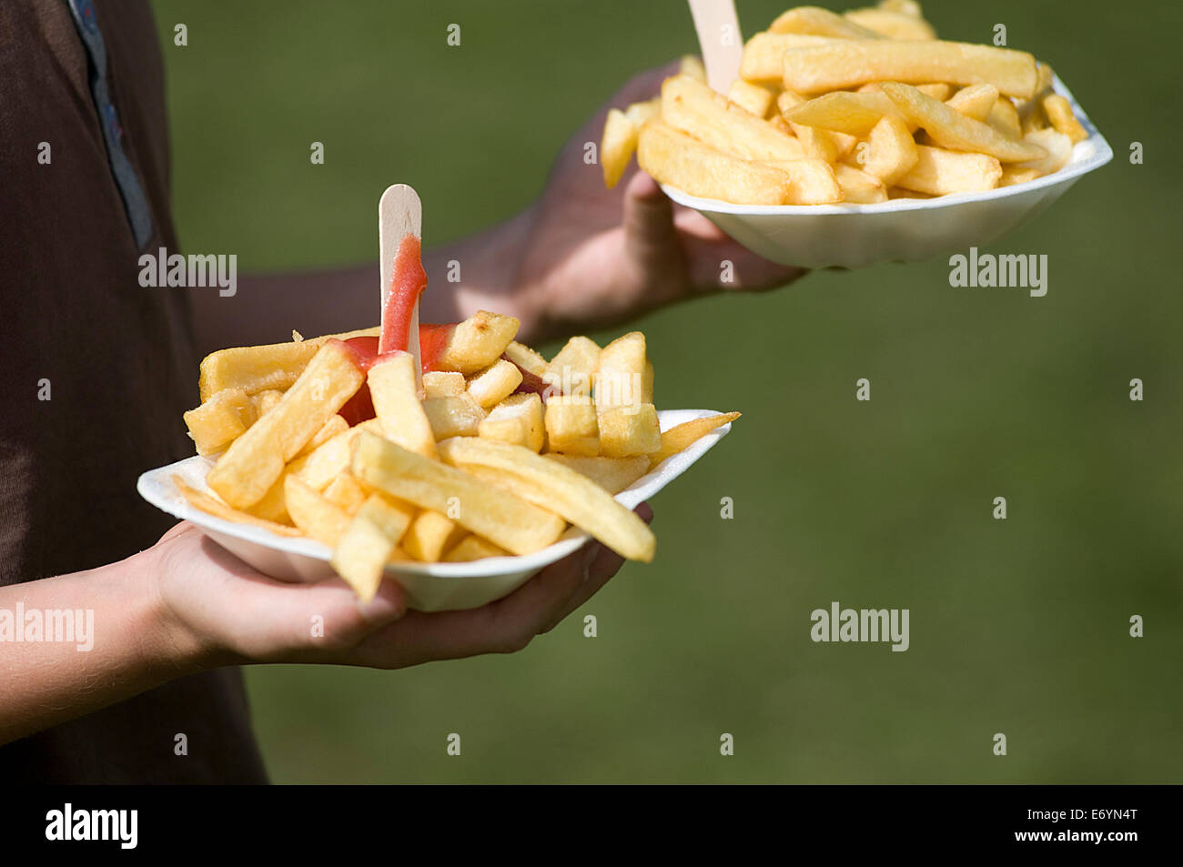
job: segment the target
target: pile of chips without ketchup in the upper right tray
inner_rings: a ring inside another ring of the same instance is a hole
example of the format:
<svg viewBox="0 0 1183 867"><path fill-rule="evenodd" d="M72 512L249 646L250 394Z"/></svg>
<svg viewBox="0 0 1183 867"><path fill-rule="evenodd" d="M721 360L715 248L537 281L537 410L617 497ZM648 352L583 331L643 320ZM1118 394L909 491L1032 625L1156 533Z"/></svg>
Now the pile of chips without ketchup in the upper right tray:
<svg viewBox="0 0 1183 867"><path fill-rule="evenodd" d="M846 14L789 9L743 51L726 96L685 58L654 99L612 109L610 188L634 150L653 177L735 205L877 203L1059 172L1088 137L1052 69L1009 48L940 41L913 0Z"/></svg>

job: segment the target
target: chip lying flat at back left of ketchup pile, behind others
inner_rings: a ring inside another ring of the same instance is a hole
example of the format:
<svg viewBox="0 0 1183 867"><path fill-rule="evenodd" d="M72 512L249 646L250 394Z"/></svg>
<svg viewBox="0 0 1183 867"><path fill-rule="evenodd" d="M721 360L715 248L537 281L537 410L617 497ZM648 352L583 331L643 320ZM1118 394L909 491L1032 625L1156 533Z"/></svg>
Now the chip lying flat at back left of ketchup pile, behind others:
<svg viewBox="0 0 1183 867"><path fill-rule="evenodd" d="M309 341L273 343L264 347L234 347L211 352L201 362L198 388L202 402L224 388L240 388L247 394L267 389L286 389L312 361L312 356L332 338L376 337L379 329L369 328L340 335L325 335Z"/></svg>

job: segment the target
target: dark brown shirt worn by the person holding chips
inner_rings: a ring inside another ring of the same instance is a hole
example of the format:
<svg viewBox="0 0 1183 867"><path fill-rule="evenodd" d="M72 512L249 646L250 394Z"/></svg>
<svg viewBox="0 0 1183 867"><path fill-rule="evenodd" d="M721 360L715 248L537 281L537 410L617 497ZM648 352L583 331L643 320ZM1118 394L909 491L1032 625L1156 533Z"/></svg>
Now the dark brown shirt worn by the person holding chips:
<svg viewBox="0 0 1183 867"><path fill-rule="evenodd" d="M96 108L66 0L0 2L2 584L151 545L173 519L136 478L193 451L180 421L198 400L192 290L138 282L142 252L177 250L155 24L144 0L78 1L97 18L116 118ZM142 248L104 142L112 119L150 213ZM188 756L174 755L181 732ZM266 782L238 669L0 746L0 779Z"/></svg>

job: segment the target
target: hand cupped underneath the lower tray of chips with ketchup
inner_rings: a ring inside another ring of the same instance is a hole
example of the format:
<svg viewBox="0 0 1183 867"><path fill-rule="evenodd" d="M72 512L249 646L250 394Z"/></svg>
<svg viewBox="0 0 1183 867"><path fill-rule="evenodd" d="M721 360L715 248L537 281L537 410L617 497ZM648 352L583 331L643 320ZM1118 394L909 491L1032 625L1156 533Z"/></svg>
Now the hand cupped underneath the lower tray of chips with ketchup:
<svg viewBox="0 0 1183 867"><path fill-rule="evenodd" d="M653 518L648 504L636 512ZM509 596L481 608L408 612L394 581L358 602L337 577L312 584L256 571L182 522L150 549L169 639L201 666L331 662L401 668L441 659L511 653L582 606L623 563L593 541ZM319 617L321 635L313 634Z"/></svg>

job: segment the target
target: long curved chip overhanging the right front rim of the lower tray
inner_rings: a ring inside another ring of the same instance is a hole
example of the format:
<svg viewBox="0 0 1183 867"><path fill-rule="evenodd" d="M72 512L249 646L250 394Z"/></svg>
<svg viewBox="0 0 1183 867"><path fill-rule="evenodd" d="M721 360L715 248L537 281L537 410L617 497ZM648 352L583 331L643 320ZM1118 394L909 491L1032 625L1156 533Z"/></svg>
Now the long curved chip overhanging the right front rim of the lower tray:
<svg viewBox="0 0 1183 867"><path fill-rule="evenodd" d="M561 515L622 557L645 562L653 559L657 541L648 525L614 500L610 493L574 470L521 446L472 438L445 440L440 444L440 454L448 464L466 470L483 467L496 471L496 484L505 485L523 499ZM489 474L484 478L491 480ZM500 544L497 539L492 541Z"/></svg>

